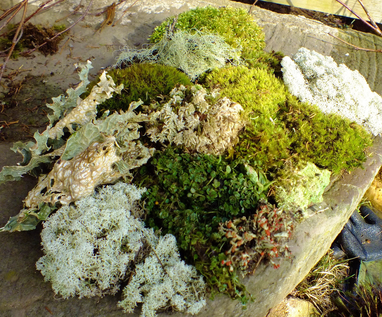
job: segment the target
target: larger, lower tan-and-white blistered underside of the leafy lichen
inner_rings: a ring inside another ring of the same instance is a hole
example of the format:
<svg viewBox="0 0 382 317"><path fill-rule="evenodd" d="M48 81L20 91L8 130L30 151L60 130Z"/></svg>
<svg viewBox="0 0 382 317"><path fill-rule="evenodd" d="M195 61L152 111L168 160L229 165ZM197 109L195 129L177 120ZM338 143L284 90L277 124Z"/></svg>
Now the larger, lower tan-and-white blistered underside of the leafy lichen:
<svg viewBox="0 0 382 317"><path fill-rule="evenodd" d="M121 174L113 165L121 158L116 150L115 137L109 136L102 143L94 142L70 161L58 160L28 193L25 206L37 207L40 202L69 204L90 196L96 186L118 180ZM45 188L46 192L41 193Z"/></svg>

